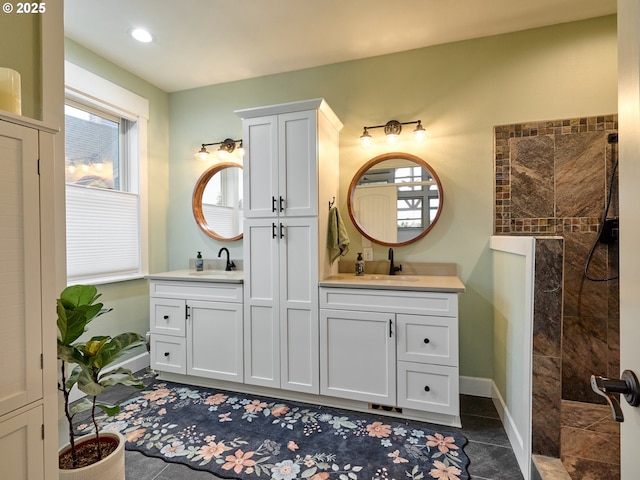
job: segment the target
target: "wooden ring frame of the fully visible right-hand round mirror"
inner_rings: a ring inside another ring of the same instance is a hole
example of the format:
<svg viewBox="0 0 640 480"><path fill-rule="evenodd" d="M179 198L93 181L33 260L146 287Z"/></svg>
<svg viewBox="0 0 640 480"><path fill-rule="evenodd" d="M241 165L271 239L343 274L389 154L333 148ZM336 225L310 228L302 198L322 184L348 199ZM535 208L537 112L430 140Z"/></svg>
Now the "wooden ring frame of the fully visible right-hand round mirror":
<svg viewBox="0 0 640 480"><path fill-rule="evenodd" d="M369 235L367 232L364 231L364 229L362 228L362 225L360 225L360 222L356 218L355 213L353 211L354 195L356 191L356 186L360 181L360 177L362 177L362 175L374 165L377 165L378 163L384 162L386 160L393 160L393 159L410 160L417 163L419 166L421 166L425 170L429 171L429 173L431 173L431 176L435 180L436 184L438 185L438 198L440 199L436 216L433 219L433 221L429 224L429 226L425 228L424 231L420 233L420 235L417 235L404 242L397 242L397 243L383 242ZM401 152L384 153L382 155L378 155L377 157L372 158L367 163L365 163L362 167L360 167L360 169L353 176L353 179L351 180L351 184L349 185L349 192L347 194L347 210L349 211L349 217L351 218L351 221L353 222L353 225L356 227L358 232L360 232L364 237L368 238L372 242L377 243L378 245L384 245L387 247L402 247L404 245L409 245L411 243L417 242L422 237L424 237L427 233L431 231L434 225L438 222L438 219L440 218L440 213L442 213L443 203L444 203L444 195L442 192L442 184L440 183L440 178L438 178L438 175L436 174L435 170L433 170L433 168L431 168L431 166L420 157L416 157L415 155L411 155L410 153L401 153Z"/></svg>

